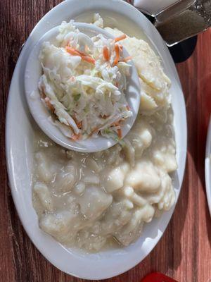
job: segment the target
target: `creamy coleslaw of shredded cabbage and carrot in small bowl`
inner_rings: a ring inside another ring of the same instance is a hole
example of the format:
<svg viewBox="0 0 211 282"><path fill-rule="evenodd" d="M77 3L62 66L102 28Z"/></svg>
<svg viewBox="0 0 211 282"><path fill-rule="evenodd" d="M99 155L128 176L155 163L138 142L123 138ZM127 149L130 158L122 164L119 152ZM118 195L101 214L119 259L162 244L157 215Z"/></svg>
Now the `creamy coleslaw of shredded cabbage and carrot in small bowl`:
<svg viewBox="0 0 211 282"><path fill-rule="evenodd" d="M90 38L72 20L60 25L56 39L58 47L44 42L39 54L41 99L56 126L72 140L121 138L132 111L124 94L130 66L118 39Z"/></svg>

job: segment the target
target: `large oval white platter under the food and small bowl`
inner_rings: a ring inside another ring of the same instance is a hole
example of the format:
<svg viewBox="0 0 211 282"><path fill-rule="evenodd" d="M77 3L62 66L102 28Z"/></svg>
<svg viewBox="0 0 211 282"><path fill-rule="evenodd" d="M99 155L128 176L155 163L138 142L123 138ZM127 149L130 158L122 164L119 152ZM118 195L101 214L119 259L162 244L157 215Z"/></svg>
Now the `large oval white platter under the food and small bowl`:
<svg viewBox="0 0 211 282"><path fill-rule="evenodd" d="M97 254L84 254L79 250L68 249L60 245L51 236L39 229L37 214L32 206L32 168L34 156L34 131L36 123L32 120L25 100L25 66L34 44L51 28L60 25L62 20L79 18L84 15L90 20L90 14L99 12L109 17L113 27L122 29L129 35L138 36L140 31L162 59L165 73L172 80L170 94L174 110L174 130L177 145L178 170L173 175L176 202L181 190L186 162L186 107L177 70L170 52L155 27L132 5L120 0L66 0L53 8L34 27L16 65L8 96L6 113L6 159L8 178L15 207L30 239L54 266L76 277L86 279L105 279L122 274L139 264L158 243L174 212L174 207L153 219L143 228L136 243L124 248L106 250ZM86 16L87 15L87 16ZM106 22L106 20L105 20ZM136 32L138 30L138 32ZM182 211L181 211L182 212ZM173 231L174 232L174 231Z"/></svg>

